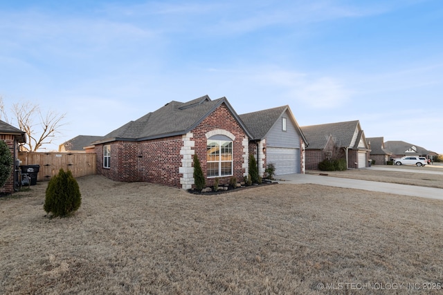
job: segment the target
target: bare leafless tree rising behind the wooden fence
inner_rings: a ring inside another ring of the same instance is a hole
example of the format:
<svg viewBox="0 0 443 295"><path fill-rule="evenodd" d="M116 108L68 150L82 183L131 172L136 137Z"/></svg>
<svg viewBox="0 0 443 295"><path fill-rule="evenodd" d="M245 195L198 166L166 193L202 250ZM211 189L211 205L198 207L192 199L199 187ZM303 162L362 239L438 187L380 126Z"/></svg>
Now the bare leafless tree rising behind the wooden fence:
<svg viewBox="0 0 443 295"><path fill-rule="evenodd" d="M59 114L55 111L42 113L39 106L32 102L17 102L12 104L12 120L9 120L8 114L3 105L3 99L0 97L0 112L3 121L12 124L14 121L17 127L26 133L26 144L24 149L28 151L37 151L42 149L44 144L52 144L53 140L60 134L60 127L65 124L62 122L66 113Z"/></svg>

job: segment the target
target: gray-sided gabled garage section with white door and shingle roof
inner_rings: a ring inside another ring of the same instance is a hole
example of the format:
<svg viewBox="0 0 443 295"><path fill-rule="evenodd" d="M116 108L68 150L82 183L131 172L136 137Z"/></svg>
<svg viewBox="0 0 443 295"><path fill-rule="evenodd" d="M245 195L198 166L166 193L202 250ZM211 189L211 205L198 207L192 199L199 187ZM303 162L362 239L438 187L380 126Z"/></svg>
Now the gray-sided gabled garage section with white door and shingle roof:
<svg viewBox="0 0 443 295"><path fill-rule="evenodd" d="M240 118L251 132L249 152L255 155L259 175L273 163L275 175L305 173L307 142L289 106L246 113Z"/></svg>

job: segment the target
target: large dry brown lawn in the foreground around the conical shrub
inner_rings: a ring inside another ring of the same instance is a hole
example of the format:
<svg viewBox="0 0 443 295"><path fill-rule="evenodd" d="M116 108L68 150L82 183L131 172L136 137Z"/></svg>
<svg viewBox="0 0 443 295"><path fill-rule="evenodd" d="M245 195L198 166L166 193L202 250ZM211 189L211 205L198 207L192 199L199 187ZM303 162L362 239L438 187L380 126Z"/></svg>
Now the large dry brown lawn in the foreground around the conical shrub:
<svg viewBox="0 0 443 295"><path fill-rule="evenodd" d="M0 198L0 294L443 294L441 200L78 182L70 218L45 217L46 182Z"/></svg>

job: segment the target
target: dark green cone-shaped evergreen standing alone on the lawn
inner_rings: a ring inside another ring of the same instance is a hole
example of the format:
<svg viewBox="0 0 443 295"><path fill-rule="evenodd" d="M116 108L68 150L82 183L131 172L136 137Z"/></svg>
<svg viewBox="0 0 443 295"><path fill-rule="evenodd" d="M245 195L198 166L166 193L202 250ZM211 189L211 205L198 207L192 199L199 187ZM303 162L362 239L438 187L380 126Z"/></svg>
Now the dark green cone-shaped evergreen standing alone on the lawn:
<svg viewBox="0 0 443 295"><path fill-rule="evenodd" d="M48 182L43 209L46 213L53 213L53 217L66 217L77 211L82 203L82 195L78 182L71 171L60 169Z"/></svg>

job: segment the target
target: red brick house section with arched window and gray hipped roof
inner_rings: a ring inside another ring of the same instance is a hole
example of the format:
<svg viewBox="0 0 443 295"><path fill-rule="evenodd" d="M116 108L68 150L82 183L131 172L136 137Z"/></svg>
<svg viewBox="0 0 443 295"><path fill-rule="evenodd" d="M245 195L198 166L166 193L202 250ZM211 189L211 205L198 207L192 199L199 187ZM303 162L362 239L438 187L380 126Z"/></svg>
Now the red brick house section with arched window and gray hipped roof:
<svg viewBox="0 0 443 295"><path fill-rule="evenodd" d="M198 155L206 184L248 175L250 133L228 99L208 95L172 101L93 142L97 173L125 182L154 182L190 189ZM87 151L88 152L88 151Z"/></svg>

